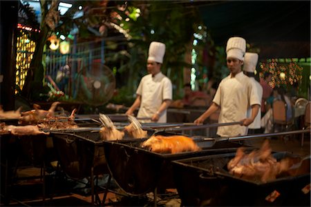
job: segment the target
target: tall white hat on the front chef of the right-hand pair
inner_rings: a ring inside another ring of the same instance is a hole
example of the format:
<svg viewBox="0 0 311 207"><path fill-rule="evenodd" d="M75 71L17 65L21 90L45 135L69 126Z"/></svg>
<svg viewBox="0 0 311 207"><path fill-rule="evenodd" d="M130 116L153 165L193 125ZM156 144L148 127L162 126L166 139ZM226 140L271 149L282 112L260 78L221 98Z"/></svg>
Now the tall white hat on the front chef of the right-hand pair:
<svg viewBox="0 0 311 207"><path fill-rule="evenodd" d="M227 41L227 58L233 57L244 60L246 41L242 37L231 37Z"/></svg>

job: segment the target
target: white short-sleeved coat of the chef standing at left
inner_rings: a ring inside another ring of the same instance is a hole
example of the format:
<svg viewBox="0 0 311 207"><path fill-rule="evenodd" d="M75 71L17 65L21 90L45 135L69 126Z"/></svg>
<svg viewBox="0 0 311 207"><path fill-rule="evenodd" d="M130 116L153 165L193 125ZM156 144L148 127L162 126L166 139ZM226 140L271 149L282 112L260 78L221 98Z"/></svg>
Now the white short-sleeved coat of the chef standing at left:
<svg viewBox="0 0 311 207"><path fill-rule="evenodd" d="M159 72L152 77L151 74L145 75L140 81L136 94L141 95L140 110L138 118L152 117L166 99L172 99L173 89L171 80ZM158 120L159 123L167 122L167 110L164 110Z"/></svg>

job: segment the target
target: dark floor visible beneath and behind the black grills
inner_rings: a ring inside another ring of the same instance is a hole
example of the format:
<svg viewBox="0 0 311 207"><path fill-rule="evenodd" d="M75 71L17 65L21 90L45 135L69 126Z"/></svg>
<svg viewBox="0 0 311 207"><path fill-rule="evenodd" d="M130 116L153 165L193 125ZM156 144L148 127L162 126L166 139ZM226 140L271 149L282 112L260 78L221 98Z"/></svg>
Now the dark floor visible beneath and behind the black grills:
<svg viewBox="0 0 311 207"><path fill-rule="evenodd" d="M245 144L260 147L263 144L262 138L249 139ZM273 151L287 151L292 152L301 157L310 156L310 135L305 135L305 141L301 146L301 137L271 137L270 146ZM39 175L39 168L26 168L19 170L18 174L21 177ZM92 204L92 197L90 188L81 190L76 188L77 182L68 179L61 179L54 183L54 194L52 194L52 174L48 174L46 179L46 200L42 202L42 185L39 179L32 179L21 181L17 186L11 189L10 201L1 197L1 206L98 206L98 200L95 199L95 204ZM1 182L3 177L1 176ZM124 194L122 190L113 188L116 192ZM107 193L104 206L180 206L181 201L178 199L178 192L176 189L168 189L167 194L160 195L153 199L153 193L144 195L142 197L122 196L117 193ZM3 191L1 191L3 194ZM102 201L104 197L104 190L100 190L99 200ZM51 199L51 197L53 199ZM6 201L6 202L5 202ZM103 206L103 204L101 204Z"/></svg>

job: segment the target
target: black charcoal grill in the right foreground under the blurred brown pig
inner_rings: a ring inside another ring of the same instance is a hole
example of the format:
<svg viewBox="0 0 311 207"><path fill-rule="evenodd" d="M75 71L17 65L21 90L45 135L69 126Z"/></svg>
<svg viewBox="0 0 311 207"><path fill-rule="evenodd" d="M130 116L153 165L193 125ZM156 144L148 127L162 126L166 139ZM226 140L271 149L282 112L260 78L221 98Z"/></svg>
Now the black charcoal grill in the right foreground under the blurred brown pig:
<svg viewBox="0 0 311 207"><path fill-rule="evenodd" d="M310 184L310 159L296 176L281 176L261 183L230 175L227 162L235 153L209 155L172 161L175 182L182 206L309 206L310 192L301 189ZM297 157L288 152L274 152L279 161ZM303 168L304 169L304 168ZM276 190L274 201L265 198Z"/></svg>

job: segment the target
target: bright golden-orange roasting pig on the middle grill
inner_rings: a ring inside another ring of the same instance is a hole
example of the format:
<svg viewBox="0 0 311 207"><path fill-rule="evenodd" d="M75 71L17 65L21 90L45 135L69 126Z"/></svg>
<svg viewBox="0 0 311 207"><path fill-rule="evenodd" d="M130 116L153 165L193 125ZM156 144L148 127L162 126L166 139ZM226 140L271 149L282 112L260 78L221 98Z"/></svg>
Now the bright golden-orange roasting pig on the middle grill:
<svg viewBox="0 0 311 207"><path fill-rule="evenodd" d="M200 150L193 139L182 135L168 137L162 135L151 136L142 143L141 147L147 148L151 152L171 154Z"/></svg>

